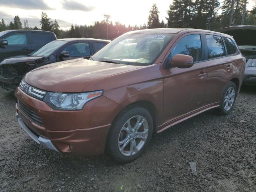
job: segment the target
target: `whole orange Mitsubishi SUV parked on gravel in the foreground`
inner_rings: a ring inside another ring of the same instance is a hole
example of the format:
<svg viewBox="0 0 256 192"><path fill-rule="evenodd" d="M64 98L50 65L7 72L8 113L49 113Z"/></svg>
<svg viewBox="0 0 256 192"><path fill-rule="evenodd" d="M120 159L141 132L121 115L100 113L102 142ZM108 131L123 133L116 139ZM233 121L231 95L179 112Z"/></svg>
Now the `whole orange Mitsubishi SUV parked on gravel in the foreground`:
<svg viewBox="0 0 256 192"><path fill-rule="evenodd" d="M152 134L212 108L228 114L245 58L226 34L197 29L128 32L94 54L32 70L15 95L18 122L57 152L108 152L130 162Z"/></svg>

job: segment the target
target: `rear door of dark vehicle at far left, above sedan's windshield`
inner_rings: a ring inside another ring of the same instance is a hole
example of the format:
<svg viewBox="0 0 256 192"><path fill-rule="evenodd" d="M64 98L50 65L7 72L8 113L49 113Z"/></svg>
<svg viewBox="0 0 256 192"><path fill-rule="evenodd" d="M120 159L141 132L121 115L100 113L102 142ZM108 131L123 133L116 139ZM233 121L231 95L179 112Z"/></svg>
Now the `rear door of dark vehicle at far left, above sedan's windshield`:
<svg viewBox="0 0 256 192"><path fill-rule="evenodd" d="M49 33L30 31L31 52L40 49L51 41Z"/></svg>

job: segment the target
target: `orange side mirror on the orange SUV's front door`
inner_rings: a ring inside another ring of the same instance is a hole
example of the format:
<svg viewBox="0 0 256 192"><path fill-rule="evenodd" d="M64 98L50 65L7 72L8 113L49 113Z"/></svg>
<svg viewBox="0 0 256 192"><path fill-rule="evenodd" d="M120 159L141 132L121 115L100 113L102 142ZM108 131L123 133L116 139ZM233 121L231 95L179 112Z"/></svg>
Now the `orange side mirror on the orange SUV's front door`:
<svg viewBox="0 0 256 192"><path fill-rule="evenodd" d="M166 60L164 69L178 67L178 68L190 68L194 65L194 59L192 56L177 54L172 57L171 61Z"/></svg>

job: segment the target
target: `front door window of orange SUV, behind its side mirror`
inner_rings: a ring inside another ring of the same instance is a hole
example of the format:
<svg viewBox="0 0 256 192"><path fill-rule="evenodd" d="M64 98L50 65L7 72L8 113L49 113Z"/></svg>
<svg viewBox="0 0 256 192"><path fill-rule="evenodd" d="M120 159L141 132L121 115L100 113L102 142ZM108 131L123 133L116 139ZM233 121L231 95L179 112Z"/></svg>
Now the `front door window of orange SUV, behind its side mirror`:
<svg viewBox="0 0 256 192"><path fill-rule="evenodd" d="M176 54L190 55L194 62L202 61L202 44L199 34L193 34L183 37L172 49L171 56Z"/></svg>

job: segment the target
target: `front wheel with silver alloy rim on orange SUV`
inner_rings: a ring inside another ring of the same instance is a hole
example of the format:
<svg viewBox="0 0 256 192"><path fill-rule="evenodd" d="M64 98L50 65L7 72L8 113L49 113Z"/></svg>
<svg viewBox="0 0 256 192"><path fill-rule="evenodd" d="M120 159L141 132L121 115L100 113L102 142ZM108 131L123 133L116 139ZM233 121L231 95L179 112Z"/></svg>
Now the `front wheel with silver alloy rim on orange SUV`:
<svg viewBox="0 0 256 192"><path fill-rule="evenodd" d="M153 120L142 107L123 110L112 123L107 139L107 150L120 163L131 162L146 150L153 133Z"/></svg>

